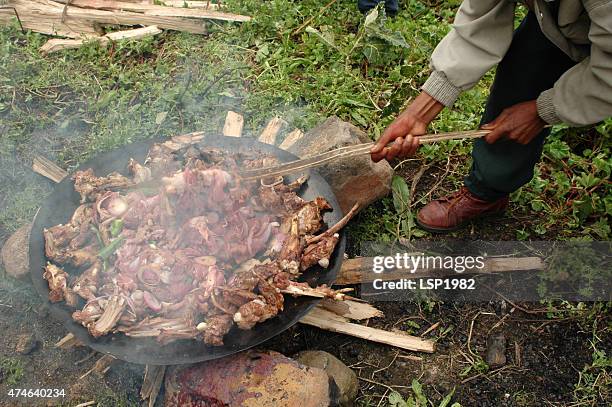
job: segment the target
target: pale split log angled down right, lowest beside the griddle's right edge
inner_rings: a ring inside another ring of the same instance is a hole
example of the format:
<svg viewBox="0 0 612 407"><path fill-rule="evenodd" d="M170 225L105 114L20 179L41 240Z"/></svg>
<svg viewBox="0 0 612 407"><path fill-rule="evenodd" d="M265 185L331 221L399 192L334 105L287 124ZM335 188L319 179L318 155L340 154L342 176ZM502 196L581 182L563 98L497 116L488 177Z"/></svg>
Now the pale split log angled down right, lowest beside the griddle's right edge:
<svg viewBox="0 0 612 407"><path fill-rule="evenodd" d="M433 341L399 332L389 332L354 324L348 322L346 318L318 307L313 308L312 311L300 319L300 323L372 342L384 343L401 349L427 353L433 353L435 350L435 343Z"/></svg>

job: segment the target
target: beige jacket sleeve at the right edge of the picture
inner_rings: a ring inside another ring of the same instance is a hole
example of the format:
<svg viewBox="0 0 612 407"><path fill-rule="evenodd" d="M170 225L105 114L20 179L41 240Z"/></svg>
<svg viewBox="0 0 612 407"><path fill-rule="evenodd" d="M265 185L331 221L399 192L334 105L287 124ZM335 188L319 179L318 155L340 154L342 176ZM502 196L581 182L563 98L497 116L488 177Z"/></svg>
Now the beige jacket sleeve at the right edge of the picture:
<svg viewBox="0 0 612 407"><path fill-rule="evenodd" d="M591 19L591 56L538 97L538 114L550 124L584 126L612 116L612 1L583 4Z"/></svg>

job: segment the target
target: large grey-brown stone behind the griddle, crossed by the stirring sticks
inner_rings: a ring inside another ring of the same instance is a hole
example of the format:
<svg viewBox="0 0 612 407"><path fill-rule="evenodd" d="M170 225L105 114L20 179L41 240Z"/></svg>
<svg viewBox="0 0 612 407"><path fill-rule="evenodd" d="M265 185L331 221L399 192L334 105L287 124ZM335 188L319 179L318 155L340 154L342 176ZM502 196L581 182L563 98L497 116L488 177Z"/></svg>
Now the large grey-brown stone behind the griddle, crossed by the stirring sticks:
<svg viewBox="0 0 612 407"><path fill-rule="evenodd" d="M359 128L332 116L306 133L289 151L305 158L369 141ZM317 171L331 185L344 213L356 202L364 208L391 190L393 169L386 161L374 163L369 155L336 160L317 168Z"/></svg>

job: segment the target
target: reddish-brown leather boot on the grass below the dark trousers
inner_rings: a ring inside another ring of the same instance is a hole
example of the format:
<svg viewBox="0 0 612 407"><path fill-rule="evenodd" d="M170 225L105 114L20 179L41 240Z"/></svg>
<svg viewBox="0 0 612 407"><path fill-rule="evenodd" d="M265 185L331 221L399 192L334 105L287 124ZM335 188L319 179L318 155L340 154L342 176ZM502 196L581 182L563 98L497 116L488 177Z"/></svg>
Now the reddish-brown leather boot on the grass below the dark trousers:
<svg viewBox="0 0 612 407"><path fill-rule="evenodd" d="M429 232L451 232L472 219L499 215L507 207L508 197L487 202L462 187L421 208L417 214L417 223Z"/></svg>

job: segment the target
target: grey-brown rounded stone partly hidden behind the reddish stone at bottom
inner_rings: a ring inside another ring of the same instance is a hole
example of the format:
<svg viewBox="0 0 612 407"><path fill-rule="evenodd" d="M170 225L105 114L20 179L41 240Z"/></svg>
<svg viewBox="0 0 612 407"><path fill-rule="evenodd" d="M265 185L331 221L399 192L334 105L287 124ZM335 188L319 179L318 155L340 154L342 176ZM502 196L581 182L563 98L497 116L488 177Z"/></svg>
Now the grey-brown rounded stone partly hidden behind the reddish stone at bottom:
<svg viewBox="0 0 612 407"><path fill-rule="evenodd" d="M303 365L325 370L338 386L339 402L352 406L359 390L357 375L334 355L321 350L307 350L294 356Z"/></svg>

